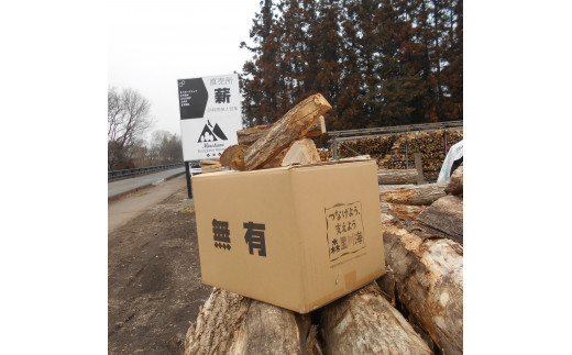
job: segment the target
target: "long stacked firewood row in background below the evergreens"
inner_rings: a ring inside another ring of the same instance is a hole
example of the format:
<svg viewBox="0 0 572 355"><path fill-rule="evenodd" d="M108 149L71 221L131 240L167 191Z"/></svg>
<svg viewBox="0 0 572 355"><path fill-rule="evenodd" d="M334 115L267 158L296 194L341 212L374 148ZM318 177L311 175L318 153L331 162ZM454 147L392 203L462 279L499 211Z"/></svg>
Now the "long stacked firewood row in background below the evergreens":
<svg viewBox="0 0 572 355"><path fill-rule="evenodd" d="M414 153L421 154L424 176L436 181L441 170L447 148L463 138L462 130L439 130L365 137L338 144L342 157L369 154L377 159L380 168L406 169L415 166Z"/></svg>

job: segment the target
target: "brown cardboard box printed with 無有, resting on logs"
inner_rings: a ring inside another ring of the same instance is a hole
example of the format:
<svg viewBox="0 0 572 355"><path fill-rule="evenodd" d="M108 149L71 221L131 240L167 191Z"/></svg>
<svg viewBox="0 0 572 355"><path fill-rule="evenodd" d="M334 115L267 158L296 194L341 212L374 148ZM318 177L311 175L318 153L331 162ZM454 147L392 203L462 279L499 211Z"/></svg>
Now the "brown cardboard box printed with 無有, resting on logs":
<svg viewBox="0 0 572 355"><path fill-rule="evenodd" d="M375 160L193 177L202 282L307 313L385 273Z"/></svg>

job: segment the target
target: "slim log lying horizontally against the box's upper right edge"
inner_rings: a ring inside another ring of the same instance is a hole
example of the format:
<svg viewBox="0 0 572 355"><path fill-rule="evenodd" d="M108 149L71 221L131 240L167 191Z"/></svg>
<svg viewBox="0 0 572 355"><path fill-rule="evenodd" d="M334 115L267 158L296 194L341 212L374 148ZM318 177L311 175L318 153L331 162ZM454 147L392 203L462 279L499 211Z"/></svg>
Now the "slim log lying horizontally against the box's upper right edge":
<svg viewBox="0 0 572 355"><path fill-rule="evenodd" d="M447 193L449 182L425 185L380 185L380 201L400 204L431 204Z"/></svg>

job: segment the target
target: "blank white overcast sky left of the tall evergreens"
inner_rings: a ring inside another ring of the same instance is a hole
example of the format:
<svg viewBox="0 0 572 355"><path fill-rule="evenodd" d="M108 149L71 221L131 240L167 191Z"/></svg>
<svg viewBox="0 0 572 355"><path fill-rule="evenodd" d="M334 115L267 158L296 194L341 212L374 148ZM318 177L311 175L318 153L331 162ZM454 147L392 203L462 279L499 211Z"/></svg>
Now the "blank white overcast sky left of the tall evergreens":
<svg viewBox="0 0 572 355"><path fill-rule="evenodd" d="M155 130L180 135L177 79L240 73L239 48L260 0L110 1L109 86L132 88L152 103Z"/></svg>

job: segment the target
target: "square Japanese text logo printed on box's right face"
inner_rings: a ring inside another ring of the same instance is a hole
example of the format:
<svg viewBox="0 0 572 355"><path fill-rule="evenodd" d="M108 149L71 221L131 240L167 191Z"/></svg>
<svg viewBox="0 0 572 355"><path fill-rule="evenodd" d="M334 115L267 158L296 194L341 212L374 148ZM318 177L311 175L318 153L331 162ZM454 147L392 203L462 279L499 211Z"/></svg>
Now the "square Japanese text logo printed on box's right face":
<svg viewBox="0 0 572 355"><path fill-rule="evenodd" d="M365 247L362 202L338 203L324 209L330 262Z"/></svg>

